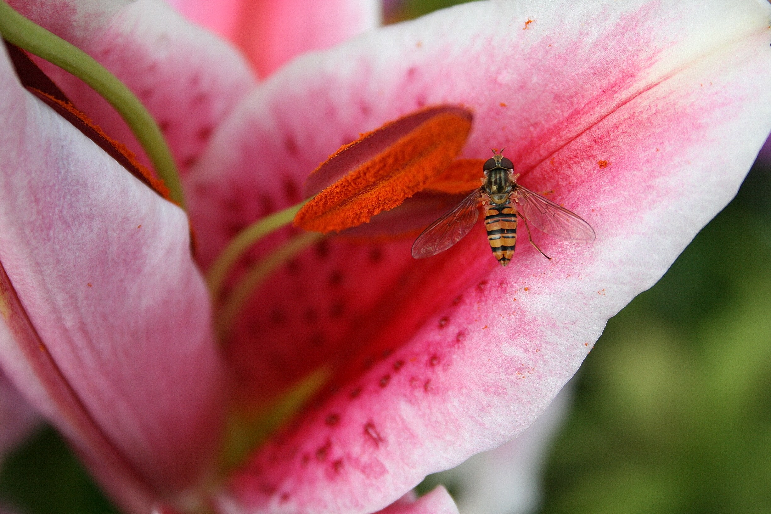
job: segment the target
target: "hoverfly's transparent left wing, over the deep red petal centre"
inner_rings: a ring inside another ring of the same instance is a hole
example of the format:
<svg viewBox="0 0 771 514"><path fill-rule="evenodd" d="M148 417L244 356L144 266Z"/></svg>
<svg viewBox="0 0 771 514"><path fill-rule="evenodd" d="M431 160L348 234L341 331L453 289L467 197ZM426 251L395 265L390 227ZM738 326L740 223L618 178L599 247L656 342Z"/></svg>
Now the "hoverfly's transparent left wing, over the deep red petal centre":
<svg viewBox="0 0 771 514"><path fill-rule="evenodd" d="M473 228L480 215L480 211L477 209L480 197L481 190L473 191L453 207L453 210L423 230L423 233L412 244L412 257L416 259L431 257L447 250L463 239Z"/></svg>

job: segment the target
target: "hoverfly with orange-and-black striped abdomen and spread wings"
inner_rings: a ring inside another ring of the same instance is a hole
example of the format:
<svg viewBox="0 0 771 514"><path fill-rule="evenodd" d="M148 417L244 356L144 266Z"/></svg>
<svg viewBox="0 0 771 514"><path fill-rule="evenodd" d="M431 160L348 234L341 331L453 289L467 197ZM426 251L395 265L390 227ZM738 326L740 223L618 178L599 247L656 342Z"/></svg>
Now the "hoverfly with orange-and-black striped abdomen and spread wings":
<svg viewBox="0 0 771 514"><path fill-rule="evenodd" d="M594 240L594 229L576 213L560 207L538 193L520 186L514 175L514 165L503 156L503 150L493 149L493 157L483 166L482 186L474 190L453 210L423 230L412 244L412 257L423 259L439 254L463 239L479 217L478 207L485 207L485 229L493 255L502 266L509 264L517 244L517 217L527 229L530 244L547 259L530 235L533 226L564 239Z"/></svg>

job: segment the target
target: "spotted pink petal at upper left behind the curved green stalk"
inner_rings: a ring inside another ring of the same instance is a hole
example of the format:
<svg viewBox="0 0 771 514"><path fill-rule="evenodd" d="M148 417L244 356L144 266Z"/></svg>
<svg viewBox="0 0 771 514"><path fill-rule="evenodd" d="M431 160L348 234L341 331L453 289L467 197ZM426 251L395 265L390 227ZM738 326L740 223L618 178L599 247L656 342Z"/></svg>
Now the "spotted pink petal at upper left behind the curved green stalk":
<svg viewBox="0 0 771 514"><path fill-rule="evenodd" d="M244 59L163 0L11 0L34 22L79 47L143 102L185 173L215 126L254 86ZM69 99L149 166L112 106L80 79L38 59Z"/></svg>

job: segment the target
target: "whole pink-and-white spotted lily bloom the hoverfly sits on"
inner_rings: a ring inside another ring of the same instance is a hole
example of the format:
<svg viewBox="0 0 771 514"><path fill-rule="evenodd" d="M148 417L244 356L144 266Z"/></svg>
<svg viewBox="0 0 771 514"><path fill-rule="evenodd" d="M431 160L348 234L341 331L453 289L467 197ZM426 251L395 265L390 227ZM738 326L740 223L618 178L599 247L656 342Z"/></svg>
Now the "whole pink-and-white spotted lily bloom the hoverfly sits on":
<svg viewBox="0 0 771 514"><path fill-rule="evenodd" d="M12 5L126 82L186 176L198 264L184 213L22 89L0 55L0 119L13 128L0 134L12 335L0 362L127 512L210 492L226 385L239 408L259 408L321 367L333 387L214 482L217 508L453 512L442 489L399 498L523 432L608 317L732 198L771 128L766 0L473 2L296 59L260 85L162 2ZM45 69L138 149L92 92ZM536 233L554 258L523 244L503 269L481 230L423 261L412 240L328 240L271 277L221 358L197 266L302 200L342 143L434 104L473 110L464 157L507 146L521 183L553 190L596 242Z"/></svg>

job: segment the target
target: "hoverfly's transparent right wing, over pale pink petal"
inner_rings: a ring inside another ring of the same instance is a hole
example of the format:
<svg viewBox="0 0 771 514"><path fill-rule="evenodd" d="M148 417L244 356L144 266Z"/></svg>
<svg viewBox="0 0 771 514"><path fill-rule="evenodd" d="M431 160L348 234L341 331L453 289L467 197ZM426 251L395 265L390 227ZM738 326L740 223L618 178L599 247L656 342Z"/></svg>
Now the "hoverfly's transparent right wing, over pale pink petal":
<svg viewBox="0 0 771 514"><path fill-rule="evenodd" d="M564 239L594 240L594 229L576 213L560 207L527 187L517 185L517 195L517 210L534 227Z"/></svg>

